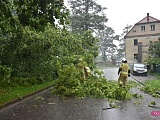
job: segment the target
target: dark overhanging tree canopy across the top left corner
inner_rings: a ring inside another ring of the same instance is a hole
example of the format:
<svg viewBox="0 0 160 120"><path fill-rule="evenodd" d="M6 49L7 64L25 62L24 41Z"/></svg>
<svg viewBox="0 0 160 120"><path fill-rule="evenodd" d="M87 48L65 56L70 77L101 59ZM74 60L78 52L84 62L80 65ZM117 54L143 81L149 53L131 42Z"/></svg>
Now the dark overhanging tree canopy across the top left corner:
<svg viewBox="0 0 160 120"><path fill-rule="evenodd" d="M3 31L10 25L17 28L18 22L36 30L43 30L48 23L54 26L56 23L63 26L69 23L69 10L63 0L3 0L0 7Z"/></svg>

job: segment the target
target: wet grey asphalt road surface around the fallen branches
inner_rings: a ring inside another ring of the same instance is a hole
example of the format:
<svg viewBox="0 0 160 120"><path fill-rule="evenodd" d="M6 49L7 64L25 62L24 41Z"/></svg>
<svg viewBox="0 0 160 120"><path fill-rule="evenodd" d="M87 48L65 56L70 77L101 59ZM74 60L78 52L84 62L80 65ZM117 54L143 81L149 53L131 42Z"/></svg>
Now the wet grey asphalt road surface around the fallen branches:
<svg viewBox="0 0 160 120"><path fill-rule="evenodd" d="M117 68L103 71L108 80L117 80ZM153 78L136 77L143 81ZM1 109L0 120L160 120L160 116L151 115L152 111L160 109L148 107L152 101L160 107L160 99L144 94L138 88L131 91L141 94L144 99L121 101L119 108L103 110L109 107L107 100L60 98L53 96L48 89Z"/></svg>

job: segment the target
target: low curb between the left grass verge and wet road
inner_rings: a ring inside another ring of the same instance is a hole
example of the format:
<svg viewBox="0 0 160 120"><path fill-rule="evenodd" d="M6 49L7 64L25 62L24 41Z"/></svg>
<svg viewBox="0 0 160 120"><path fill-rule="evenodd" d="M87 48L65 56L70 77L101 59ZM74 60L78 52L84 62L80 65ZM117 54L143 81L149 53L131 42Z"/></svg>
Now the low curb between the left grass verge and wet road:
<svg viewBox="0 0 160 120"><path fill-rule="evenodd" d="M6 107L8 107L8 106L10 106L10 105L12 105L12 104L15 104L15 103L17 103L17 102L20 102L20 101L22 101L22 100L24 100L24 99L26 99L26 98L29 98L29 97L31 97L31 96L33 96L33 95L35 95L35 94L37 94L37 93L40 93L40 92L42 92L42 91L44 91L44 90L50 89L50 88L53 88L53 85L48 86L48 87L46 87L46 88L43 88L43 89L41 89L41 90L38 90L38 91L36 91L36 92L34 92L34 93L28 94L28 95L26 95L26 96L23 96L23 97L21 97L21 98L17 98L17 99L15 99L15 100L12 100L12 101L4 104L4 105L1 105L1 106L0 106L0 110L4 109L4 108L6 108Z"/></svg>

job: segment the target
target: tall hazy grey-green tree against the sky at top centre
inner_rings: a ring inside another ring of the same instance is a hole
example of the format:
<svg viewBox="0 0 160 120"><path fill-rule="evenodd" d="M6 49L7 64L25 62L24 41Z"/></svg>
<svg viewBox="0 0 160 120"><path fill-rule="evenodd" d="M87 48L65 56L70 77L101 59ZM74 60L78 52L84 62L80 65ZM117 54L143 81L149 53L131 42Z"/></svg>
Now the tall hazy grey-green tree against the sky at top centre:
<svg viewBox="0 0 160 120"><path fill-rule="evenodd" d="M87 30L104 29L103 22L108 19L101 15L106 9L94 0L69 0L71 8L71 29L74 33L83 33Z"/></svg>

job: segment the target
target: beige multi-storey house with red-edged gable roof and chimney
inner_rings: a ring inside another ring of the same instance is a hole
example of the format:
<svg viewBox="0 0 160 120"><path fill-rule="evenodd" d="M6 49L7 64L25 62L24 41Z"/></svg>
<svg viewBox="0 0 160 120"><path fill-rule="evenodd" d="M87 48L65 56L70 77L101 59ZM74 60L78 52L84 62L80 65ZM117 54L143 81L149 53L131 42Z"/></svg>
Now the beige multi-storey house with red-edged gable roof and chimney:
<svg viewBox="0 0 160 120"><path fill-rule="evenodd" d="M148 56L150 41L160 37L160 20L147 16L136 23L125 35L125 57L128 63L144 63Z"/></svg>

